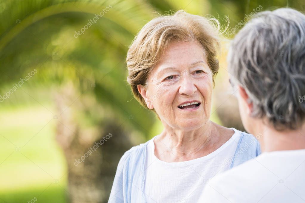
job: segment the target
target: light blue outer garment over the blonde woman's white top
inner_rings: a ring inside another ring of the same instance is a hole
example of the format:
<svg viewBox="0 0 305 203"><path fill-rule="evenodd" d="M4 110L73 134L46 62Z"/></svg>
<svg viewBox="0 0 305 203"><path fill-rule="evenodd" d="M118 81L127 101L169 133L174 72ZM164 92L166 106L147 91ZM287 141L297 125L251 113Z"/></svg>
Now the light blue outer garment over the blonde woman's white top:
<svg viewBox="0 0 305 203"><path fill-rule="evenodd" d="M261 153L257 139L251 134L241 133L235 155L230 160L230 168L257 157ZM148 143L149 141L132 147L121 157L108 203L146 202L144 166Z"/></svg>

